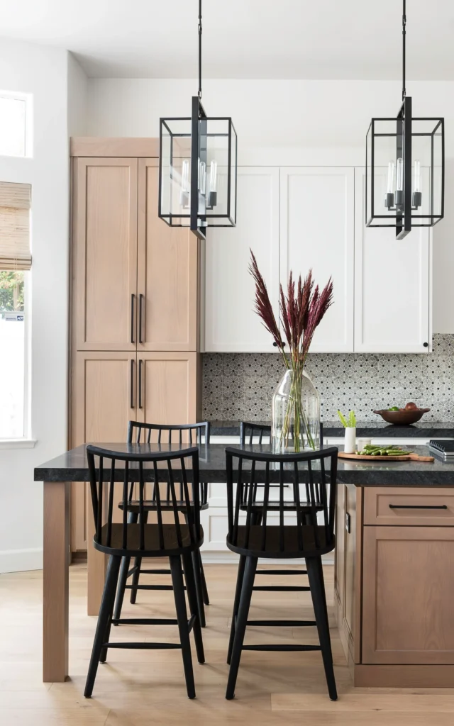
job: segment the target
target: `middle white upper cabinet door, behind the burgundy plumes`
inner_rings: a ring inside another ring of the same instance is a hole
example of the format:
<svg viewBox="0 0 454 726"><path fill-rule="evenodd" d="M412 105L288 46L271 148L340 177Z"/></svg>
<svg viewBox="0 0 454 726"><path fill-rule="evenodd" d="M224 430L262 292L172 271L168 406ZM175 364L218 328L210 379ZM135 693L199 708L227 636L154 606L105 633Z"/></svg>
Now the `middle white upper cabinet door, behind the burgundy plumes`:
<svg viewBox="0 0 454 726"><path fill-rule="evenodd" d="M334 304L317 328L311 351L353 351L354 169L280 169L280 282L312 268L320 288L333 278Z"/></svg>

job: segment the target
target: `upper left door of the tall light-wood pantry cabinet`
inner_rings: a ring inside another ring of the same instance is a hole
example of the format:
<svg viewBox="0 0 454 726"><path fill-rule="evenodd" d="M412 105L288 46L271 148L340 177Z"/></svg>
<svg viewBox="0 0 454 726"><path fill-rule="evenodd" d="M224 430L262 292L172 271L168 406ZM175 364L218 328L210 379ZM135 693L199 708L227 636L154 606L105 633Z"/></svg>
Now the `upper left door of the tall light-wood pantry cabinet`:
<svg viewBox="0 0 454 726"><path fill-rule="evenodd" d="M133 351L137 159L78 158L73 181L73 347Z"/></svg>

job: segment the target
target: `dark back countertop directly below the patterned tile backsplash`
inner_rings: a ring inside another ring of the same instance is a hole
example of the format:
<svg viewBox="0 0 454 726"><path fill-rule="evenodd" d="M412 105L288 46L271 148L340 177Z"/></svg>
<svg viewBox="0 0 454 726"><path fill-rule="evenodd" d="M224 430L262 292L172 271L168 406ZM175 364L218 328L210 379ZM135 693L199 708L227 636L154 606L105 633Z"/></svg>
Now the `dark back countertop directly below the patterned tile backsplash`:
<svg viewBox="0 0 454 726"><path fill-rule="evenodd" d="M252 423L252 422L251 422ZM255 421L269 425L269 421ZM240 436L239 421L210 421L211 436ZM396 426L393 424L380 423L358 423L356 428L357 436L376 438L386 436L390 439L454 439L454 423L420 421L410 426ZM344 436L344 427L336 421L323 423L323 436L340 438Z"/></svg>

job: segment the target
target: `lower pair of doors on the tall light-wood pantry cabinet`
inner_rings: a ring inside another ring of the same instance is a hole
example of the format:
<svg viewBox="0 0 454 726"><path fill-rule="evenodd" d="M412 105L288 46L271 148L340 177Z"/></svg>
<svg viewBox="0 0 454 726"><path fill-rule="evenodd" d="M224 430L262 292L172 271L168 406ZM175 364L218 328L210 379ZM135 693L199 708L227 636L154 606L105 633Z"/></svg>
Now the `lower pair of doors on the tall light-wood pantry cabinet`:
<svg viewBox="0 0 454 726"><path fill-rule="evenodd" d="M126 441L129 420L198 420L199 354L78 351L73 354L70 446ZM71 549L87 548L83 484L71 494ZM89 502L88 502L89 503Z"/></svg>

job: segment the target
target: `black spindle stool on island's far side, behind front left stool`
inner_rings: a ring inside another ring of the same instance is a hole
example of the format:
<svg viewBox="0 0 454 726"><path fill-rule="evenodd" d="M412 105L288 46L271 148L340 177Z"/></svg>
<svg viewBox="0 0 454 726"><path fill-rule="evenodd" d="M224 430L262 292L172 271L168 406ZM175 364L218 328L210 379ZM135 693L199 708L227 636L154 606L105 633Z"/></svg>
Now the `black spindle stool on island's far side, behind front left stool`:
<svg viewBox="0 0 454 726"><path fill-rule="evenodd" d="M208 421L203 423L192 423L192 424L181 424L181 425L161 425L154 423L140 423L139 421L129 421L128 426L128 443L147 443L150 444L152 438L157 441L158 444L172 444L177 443L179 446L185 446L183 439L189 440L190 446L194 444L202 444L202 442L209 444L210 442L210 425ZM163 440L166 439L164 442ZM200 510L208 508L207 501L208 485L200 484ZM122 505L121 505L122 506ZM182 489L180 486L179 497L177 498L177 508L182 515L187 518L187 506L184 497L182 496ZM134 498L134 487L129 489L129 499L126 502L126 509L129 512L129 522L137 523L140 518L139 513L139 502ZM173 509L173 502L170 499L169 483L165 494L161 494L161 509L163 511L171 511ZM145 523L147 522L148 514L156 511L156 491L153 487L153 493L151 498L145 499L143 503L143 517ZM209 605L210 600L208 598L208 588L206 587L205 573L203 571L202 558L200 557L200 551L197 550L193 553L192 557L195 561L198 561L198 566L195 566L195 587L197 592L198 607L200 611L200 624L205 627L205 608L204 605ZM125 557L121 563L120 576L118 579L118 591L115 602L114 616L115 619L120 618L121 608L123 606L123 598L125 590L131 590L130 601L134 604L137 600L137 590L171 590L172 585L163 584L139 584L140 574L148 575L170 575L171 571L168 569L143 569L142 568L142 557L136 557L134 559L134 566L129 569L130 558ZM131 584L128 585L127 580L132 576Z"/></svg>

